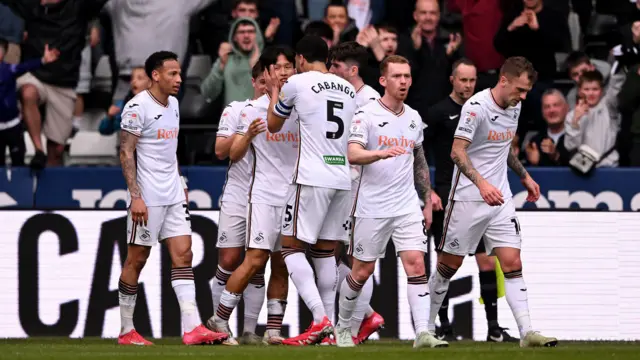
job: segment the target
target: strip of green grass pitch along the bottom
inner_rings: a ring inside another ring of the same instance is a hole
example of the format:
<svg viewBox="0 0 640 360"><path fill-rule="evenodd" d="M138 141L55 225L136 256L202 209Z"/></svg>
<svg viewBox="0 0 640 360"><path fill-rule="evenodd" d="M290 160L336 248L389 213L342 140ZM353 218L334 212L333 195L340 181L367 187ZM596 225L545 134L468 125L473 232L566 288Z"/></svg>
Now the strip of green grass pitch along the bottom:
<svg viewBox="0 0 640 360"><path fill-rule="evenodd" d="M640 343L561 342L556 348L520 349L517 344L454 342L446 349L420 349L407 341L370 341L353 349L334 346L184 346L156 339L154 346L118 346L113 339L31 338L0 340L0 359L238 359L238 360L609 360L640 359Z"/></svg>

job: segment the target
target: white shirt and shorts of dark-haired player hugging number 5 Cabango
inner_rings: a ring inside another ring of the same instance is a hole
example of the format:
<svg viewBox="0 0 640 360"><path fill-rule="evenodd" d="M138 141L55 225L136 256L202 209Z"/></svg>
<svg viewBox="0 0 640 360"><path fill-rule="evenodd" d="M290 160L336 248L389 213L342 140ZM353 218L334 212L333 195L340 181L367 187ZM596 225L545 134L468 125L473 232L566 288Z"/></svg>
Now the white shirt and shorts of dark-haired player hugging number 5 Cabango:
<svg viewBox="0 0 640 360"><path fill-rule="evenodd" d="M245 135L257 118L267 119L269 97L263 95L251 101L240 113L237 133ZM258 134L249 147L252 154L252 176L249 185L247 212L247 247L280 251L280 227L291 175L298 158L298 120L291 114L279 132L269 130ZM290 209L288 217L292 217Z"/></svg>

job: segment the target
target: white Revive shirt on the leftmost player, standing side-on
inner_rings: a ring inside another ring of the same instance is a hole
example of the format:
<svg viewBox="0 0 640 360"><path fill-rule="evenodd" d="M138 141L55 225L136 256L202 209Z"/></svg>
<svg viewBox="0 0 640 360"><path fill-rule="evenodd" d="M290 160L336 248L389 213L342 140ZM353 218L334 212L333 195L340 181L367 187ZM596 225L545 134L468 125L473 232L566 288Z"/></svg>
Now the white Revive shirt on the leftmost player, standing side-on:
<svg viewBox="0 0 640 360"><path fill-rule="evenodd" d="M173 205L185 200L178 172L178 100L169 96L162 105L148 90L129 100L122 111L120 127L137 137L136 174L147 206ZM131 201L127 192L127 204Z"/></svg>

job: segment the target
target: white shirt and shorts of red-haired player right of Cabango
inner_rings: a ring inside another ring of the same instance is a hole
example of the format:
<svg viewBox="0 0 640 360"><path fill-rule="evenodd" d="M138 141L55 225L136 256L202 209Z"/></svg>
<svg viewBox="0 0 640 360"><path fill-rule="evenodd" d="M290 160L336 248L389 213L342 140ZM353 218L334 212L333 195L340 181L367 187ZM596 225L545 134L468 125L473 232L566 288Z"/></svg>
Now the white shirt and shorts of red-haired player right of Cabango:
<svg viewBox="0 0 640 360"><path fill-rule="evenodd" d="M353 206L349 252L360 261L384 258L389 238L397 252L427 251L428 238L413 176L413 150L422 146L422 118L407 105L395 113L380 100L360 108L350 144L366 150L404 147L406 154L362 166Z"/></svg>

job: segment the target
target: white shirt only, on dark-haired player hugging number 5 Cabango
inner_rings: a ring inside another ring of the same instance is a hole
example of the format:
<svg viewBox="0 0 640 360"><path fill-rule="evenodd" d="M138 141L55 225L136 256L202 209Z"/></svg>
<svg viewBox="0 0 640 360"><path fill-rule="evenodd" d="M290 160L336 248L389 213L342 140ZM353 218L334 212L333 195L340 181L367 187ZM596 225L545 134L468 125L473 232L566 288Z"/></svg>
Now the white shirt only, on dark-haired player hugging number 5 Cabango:
<svg viewBox="0 0 640 360"><path fill-rule="evenodd" d="M263 95L251 101L240 113L237 133L244 135L253 120L262 118L265 123L269 110L269 96ZM290 187L293 169L298 159L298 119L295 111L279 132L269 130L258 134L251 141L248 152L253 154L252 177L249 185L249 202L284 206Z"/></svg>

